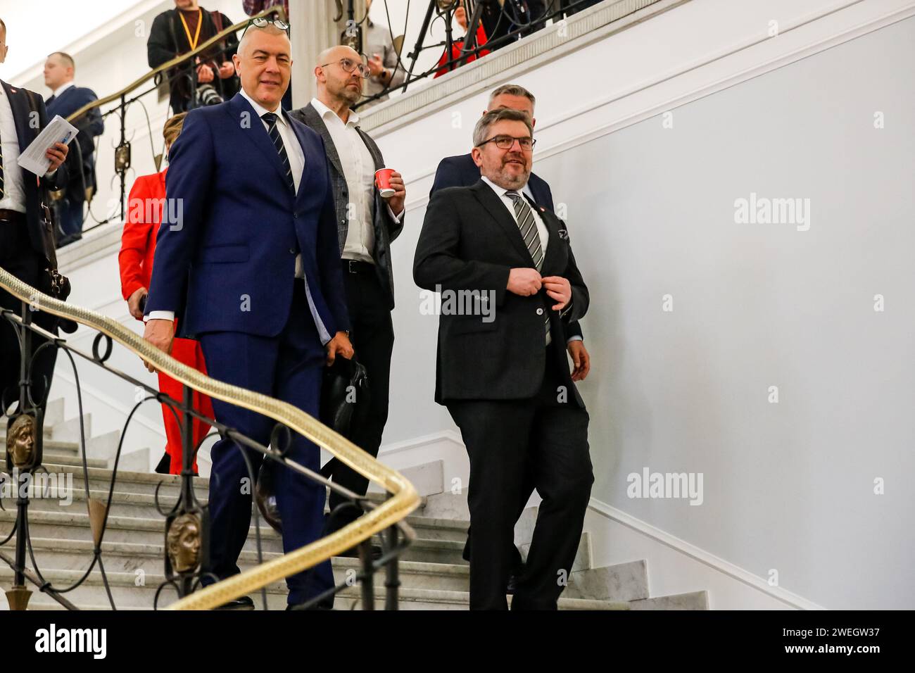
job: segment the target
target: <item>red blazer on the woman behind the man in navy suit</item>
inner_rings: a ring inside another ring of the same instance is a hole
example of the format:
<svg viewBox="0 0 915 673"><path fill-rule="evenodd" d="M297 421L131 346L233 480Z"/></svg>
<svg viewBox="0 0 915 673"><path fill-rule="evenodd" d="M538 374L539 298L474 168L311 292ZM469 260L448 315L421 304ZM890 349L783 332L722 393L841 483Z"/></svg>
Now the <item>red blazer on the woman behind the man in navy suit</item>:
<svg viewBox="0 0 915 673"><path fill-rule="evenodd" d="M139 288L149 289L153 275L156 233L162 223L166 198L166 168L161 173L137 178L127 201L127 222L121 234L121 294L128 299Z"/></svg>

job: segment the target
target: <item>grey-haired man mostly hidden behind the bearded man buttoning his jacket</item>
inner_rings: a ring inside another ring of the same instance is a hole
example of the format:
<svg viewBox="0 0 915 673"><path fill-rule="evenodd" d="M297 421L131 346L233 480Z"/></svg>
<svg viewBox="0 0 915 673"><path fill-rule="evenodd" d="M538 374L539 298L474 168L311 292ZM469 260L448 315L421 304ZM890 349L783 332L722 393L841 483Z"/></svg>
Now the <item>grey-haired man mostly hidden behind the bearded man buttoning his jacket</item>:
<svg viewBox="0 0 915 673"><path fill-rule="evenodd" d="M520 110L531 117L531 127L537 125L537 120L533 116L533 107L536 99L533 93L518 84L503 84L495 91L490 93L489 110L484 110L487 114L490 110L499 110L507 108L510 110ZM429 198L437 190L446 187L470 187L479 181L479 166L473 160L473 155L462 154L458 157L445 157L438 164L436 170L436 179L432 184L432 190L429 191ZM553 205L553 192L550 190L546 180L538 177L533 172L524 185L524 193L533 199L534 203L544 206L551 212L555 212ZM581 331L581 325L577 320L574 322L564 323L566 349L572 357L573 381L584 381L591 369L591 356L585 348L584 336ZM521 502L519 503L518 515L521 516L524 505L533 493L533 483L528 481L522 488ZM464 546L464 559L470 560L471 536L468 529L467 544ZM517 578L521 577L524 570L524 564L521 558L521 552L512 544L511 545L512 571L509 579L508 590L513 592Z"/></svg>

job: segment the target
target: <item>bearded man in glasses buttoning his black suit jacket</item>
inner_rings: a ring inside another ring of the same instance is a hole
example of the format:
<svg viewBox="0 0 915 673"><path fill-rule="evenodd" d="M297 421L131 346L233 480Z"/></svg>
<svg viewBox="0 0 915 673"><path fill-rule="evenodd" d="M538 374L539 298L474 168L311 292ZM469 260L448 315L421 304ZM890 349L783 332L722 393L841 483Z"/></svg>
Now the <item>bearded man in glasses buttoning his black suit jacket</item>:
<svg viewBox="0 0 915 673"><path fill-rule="evenodd" d="M516 508L530 473L543 503L512 608L555 609L594 482L587 411L562 348L563 323L585 314L588 293L565 223L522 194L530 116L487 113L473 144L481 178L433 195L414 259L416 285L456 294L458 305L476 298L479 308L441 316L436 358L436 402L458 424L470 459L470 608L506 608Z"/></svg>

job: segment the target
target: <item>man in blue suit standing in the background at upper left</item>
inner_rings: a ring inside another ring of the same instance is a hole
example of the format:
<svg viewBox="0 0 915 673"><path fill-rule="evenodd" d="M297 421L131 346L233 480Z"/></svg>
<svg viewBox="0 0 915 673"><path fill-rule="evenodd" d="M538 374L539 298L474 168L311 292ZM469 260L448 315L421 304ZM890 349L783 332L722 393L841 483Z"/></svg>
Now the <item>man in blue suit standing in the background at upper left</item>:
<svg viewBox="0 0 915 673"><path fill-rule="evenodd" d="M48 115L53 118L60 115L64 119L75 113L84 105L98 100L92 89L76 86L73 77L76 64L70 54L55 51L45 61L45 86L51 95L45 104ZM70 157L67 157L67 168L70 181L64 190L64 197L57 202L58 220L63 236L58 246L78 241L82 237L82 204L86 201L86 191L95 189L95 137L104 133L102 113L92 108L73 122L80 130Z"/></svg>

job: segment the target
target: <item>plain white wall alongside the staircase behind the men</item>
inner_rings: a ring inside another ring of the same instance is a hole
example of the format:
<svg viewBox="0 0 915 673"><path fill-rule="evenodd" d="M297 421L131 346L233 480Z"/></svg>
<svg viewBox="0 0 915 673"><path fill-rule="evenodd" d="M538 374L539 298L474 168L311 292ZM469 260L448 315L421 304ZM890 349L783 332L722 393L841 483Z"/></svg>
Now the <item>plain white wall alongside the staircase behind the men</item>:
<svg viewBox="0 0 915 673"><path fill-rule="evenodd" d="M503 49L437 81L423 110L417 91L366 114L408 185L385 446L466 478L432 401L436 319L419 314L413 252L438 160L468 151L486 92L518 81L539 97L534 168L592 293L597 565L649 559L653 594L709 589L717 608L911 608L915 2L659 7L550 52L530 47L545 34ZM810 230L735 223L750 192L810 199ZM90 262L91 244L61 260L74 301L116 314L116 234ZM703 505L628 498L646 466L703 472Z"/></svg>

